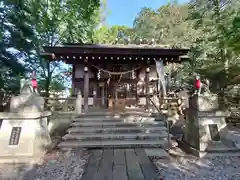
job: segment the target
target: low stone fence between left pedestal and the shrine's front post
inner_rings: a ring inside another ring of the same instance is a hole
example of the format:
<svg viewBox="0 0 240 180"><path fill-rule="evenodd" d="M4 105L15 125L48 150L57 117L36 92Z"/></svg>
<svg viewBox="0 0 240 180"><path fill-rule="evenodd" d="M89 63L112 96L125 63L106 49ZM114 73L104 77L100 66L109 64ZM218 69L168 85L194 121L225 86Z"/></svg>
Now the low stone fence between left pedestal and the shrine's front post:
<svg viewBox="0 0 240 180"><path fill-rule="evenodd" d="M46 98L45 108L50 111L72 112L75 111L76 97L71 98Z"/></svg>

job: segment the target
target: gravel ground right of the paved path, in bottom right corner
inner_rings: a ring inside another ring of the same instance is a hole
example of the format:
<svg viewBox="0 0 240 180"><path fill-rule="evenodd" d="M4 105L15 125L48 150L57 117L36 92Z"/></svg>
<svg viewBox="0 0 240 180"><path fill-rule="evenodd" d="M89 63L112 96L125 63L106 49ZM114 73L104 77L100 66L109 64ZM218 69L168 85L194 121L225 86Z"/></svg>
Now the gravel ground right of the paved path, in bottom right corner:
<svg viewBox="0 0 240 180"><path fill-rule="evenodd" d="M164 180L240 180L240 156L153 158Z"/></svg>

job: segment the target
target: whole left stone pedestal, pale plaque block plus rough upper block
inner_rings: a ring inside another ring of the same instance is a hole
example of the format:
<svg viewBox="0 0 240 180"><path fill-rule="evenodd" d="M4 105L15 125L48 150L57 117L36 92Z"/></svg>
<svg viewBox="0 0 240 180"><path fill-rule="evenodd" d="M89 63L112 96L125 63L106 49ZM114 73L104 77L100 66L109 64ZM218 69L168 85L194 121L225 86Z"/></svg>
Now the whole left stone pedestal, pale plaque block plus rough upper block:
<svg viewBox="0 0 240 180"><path fill-rule="evenodd" d="M0 162L28 162L51 146L44 100L35 93L20 94L11 100L11 112L0 113Z"/></svg>

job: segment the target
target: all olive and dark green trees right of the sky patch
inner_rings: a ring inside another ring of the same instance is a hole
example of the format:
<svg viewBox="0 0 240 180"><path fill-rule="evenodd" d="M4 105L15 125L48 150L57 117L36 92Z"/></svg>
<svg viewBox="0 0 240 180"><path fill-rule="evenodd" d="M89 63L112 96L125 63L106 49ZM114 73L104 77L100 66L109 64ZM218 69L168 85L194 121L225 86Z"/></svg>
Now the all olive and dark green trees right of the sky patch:
<svg viewBox="0 0 240 180"><path fill-rule="evenodd" d="M189 63L178 70L180 81L191 82L193 74L199 73L219 82L221 89L233 83L233 67L239 67L239 8L237 0L192 0L188 4L169 3L157 10L143 8L133 24L135 37L190 48Z"/></svg>

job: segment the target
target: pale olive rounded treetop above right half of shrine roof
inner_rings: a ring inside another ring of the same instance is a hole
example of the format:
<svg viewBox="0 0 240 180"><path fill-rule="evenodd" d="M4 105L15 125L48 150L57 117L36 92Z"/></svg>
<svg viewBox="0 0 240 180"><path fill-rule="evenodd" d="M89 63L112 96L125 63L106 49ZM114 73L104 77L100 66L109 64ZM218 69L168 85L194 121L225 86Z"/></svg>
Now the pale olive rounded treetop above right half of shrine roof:
<svg viewBox="0 0 240 180"><path fill-rule="evenodd" d="M188 18L188 5L176 3L161 6L156 11L143 8L134 21L138 38L170 47L190 47L198 36Z"/></svg>

